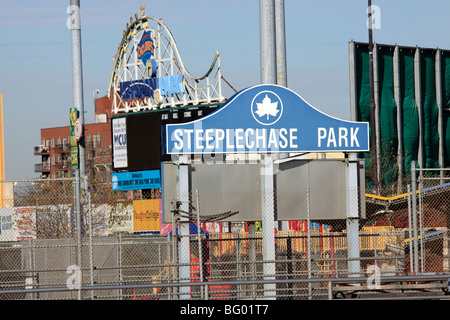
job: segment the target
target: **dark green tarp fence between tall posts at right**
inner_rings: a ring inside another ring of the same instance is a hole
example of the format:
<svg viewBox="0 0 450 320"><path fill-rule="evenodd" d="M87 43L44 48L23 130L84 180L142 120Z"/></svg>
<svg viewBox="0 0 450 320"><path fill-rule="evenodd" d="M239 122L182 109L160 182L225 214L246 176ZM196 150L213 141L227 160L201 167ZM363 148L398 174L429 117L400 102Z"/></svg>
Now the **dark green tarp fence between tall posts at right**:
<svg viewBox="0 0 450 320"><path fill-rule="evenodd" d="M411 161L422 163L423 168L439 168L440 139L443 139L444 166L450 166L450 52L441 51L441 91L436 86L437 49L398 47L399 105L395 99L394 49L395 46L377 45L374 54L374 72L378 79L376 99L379 118L380 183L398 180L398 151L401 148L404 177L410 174ZM420 70L416 70L415 57L419 53ZM358 121L370 124L370 78L368 44L358 43L354 51L356 114ZM419 72L418 72L419 71ZM420 74L420 78L416 76ZM419 88L420 92L416 92ZM443 132L439 136L439 107L437 95L442 96ZM417 99L420 98L419 101ZM398 124L398 108L401 122ZM420 112L420 114L419 114ZM420 122L420 123L419 123ZM398 128L400 126L400 128ZM400 130L399 130L400 129ZM369 125L370 134L375 128ZM399 141L401 132L402 140ZM422 145L421 145L422 142ZM422 146L420 148L420 146ZM372 170L370 152L360 155L366 160L366 172ZM366 174L370 186L372 175Z"/></svg>

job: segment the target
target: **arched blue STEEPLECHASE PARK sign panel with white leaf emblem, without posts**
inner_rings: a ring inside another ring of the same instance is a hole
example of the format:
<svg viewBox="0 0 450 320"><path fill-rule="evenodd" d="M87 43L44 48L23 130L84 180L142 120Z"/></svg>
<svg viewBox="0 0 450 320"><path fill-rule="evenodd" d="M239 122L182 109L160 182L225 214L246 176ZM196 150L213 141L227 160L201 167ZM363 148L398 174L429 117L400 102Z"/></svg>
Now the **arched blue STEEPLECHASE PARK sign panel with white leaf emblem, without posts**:
<svg viewBox="0 0 450 320"><path fill-rule="evenodd" d="M166 154L369 151L369 124L329 116L277 85L242 90L210 115L165 126Z"/></svg>

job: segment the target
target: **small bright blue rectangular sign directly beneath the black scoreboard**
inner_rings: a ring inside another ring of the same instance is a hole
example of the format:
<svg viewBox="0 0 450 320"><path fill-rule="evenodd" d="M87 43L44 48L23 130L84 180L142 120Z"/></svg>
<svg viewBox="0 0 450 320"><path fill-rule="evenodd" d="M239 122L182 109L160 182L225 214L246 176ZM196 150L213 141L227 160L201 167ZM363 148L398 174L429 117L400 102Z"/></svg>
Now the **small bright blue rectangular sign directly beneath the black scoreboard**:
<svg viewBox="0 0 450 320"><path fill-rule="evenodd" d="M161 188L159 170L111 173L112 189L127 191Z"/></svg>

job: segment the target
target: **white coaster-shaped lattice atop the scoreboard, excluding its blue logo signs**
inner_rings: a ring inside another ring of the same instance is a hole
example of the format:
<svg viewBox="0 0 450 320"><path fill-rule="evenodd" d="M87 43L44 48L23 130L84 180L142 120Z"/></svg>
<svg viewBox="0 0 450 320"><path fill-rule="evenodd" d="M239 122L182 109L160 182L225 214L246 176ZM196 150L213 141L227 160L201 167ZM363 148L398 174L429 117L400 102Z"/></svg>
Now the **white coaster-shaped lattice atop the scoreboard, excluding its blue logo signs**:
<svg viewBox="0 0 450 320"><path fill-rule="evenodd" d="M128 113L188 105L211 104L225 101L222 96L220 55L216 52L209 70L201 77L192 76L186 69L175 39L161 21L147 17L130 18L123 38L114 56L114 67L109 85L109 97L113 99L113 113ZM155 95L152 97L122 99L120 83L147 79L146 68L138 59L137 46L144 31L154 34L154 59L157 64L156 77L182 75L184 93Z"/></svg>

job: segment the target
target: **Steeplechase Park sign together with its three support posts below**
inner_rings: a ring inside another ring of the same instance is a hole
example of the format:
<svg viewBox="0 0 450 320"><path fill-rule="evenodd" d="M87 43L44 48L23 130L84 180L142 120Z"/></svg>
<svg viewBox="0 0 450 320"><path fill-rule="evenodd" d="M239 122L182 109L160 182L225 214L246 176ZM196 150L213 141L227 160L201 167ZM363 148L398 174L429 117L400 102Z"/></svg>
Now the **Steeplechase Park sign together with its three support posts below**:
<svg viewBox="0 0 450 320"><path fill-rule="evenodd" d="M274 159L286 153L356 154L369 151L368 123L331 117L309 105L295 92L278 85L257 85L242 90L206 117L187 123L167 124L163 136L163 153L182 155L180 159L193 154L259 155L265 279L275 276ZM187 165L182 163L178 171L178 192L182 205L185 205L181 195L182 191L189 192L189 186L186 169L183 169ZM350 161L347 223L352 235L357 235L353 231L358 227L358 183L358 162ZM357 249L351 251L352 257L357 257ZM184 250L179 253L183 254ZM187 258L180 257L180 261L183 259ZM350 270L358 272L359 268L351 264ZM274 289L270 284L265 286L267 299L275 297Z"/></svg>

